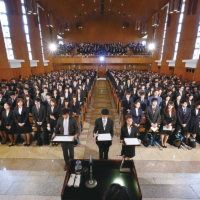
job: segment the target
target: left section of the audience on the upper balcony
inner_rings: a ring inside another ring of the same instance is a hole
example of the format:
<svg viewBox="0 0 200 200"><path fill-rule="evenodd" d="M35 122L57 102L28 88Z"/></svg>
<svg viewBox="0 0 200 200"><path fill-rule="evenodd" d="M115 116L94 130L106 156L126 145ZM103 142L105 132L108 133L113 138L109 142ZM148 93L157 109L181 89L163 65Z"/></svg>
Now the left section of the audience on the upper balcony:
<svg viewBox="0 0 200 200"><path fill-rule="evenodd" d="M59 44L57 46L57 50L54 52L55 55L60 55L60 54L68 54L70 55L72 51L76 48L77 44L76 43L64 43L64 44Z"/></svg>

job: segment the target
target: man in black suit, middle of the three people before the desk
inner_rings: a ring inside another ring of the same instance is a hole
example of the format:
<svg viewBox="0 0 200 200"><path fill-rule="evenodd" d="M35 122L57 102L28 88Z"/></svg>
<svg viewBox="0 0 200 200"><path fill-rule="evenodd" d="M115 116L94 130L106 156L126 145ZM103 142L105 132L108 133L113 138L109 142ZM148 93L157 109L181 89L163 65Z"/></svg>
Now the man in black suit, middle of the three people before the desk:
<svg viewBox="0 0 200 200"><path fill-rule="evenodd" d="M96 144L99 147L99 159L108 159L109 147L112 145L112 141L98 141L98 134L110 133L113 138L113 120L108 118L109 110L102 109L102 117L96 119L95 127L93 130ZM98 131L98 134L97 134Z"/></svg>

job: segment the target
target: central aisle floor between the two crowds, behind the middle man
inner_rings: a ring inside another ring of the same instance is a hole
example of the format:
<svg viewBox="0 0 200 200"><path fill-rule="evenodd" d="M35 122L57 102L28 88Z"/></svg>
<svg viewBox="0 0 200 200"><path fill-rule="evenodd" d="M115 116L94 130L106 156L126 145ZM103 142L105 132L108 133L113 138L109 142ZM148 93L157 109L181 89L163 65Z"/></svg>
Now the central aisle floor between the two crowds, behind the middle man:
<svg viewBox="0 0 200 200"><path fill-rule="evenodd" d="M109 109L109 117L114 120L114 138L113 145L109 151L110 159L119 159L117 155L120 154L121 145L119 143L119 133L120 126L118 125L118 114L114 107L113 98L111 95L110 88L108 86L108 82L105 80L96 81L96 85L94 87L92 102L89 106L88 113L86 114L85 123L83 126L83 132L80 136L80 141L83 144L83 140L85 138L85 152L84 159L88 159L90 155L93 158L98 159L98 147L95 143L95 139L93 138L93 129L95 120L101 117L101 110L103 108Z"/></svg>

